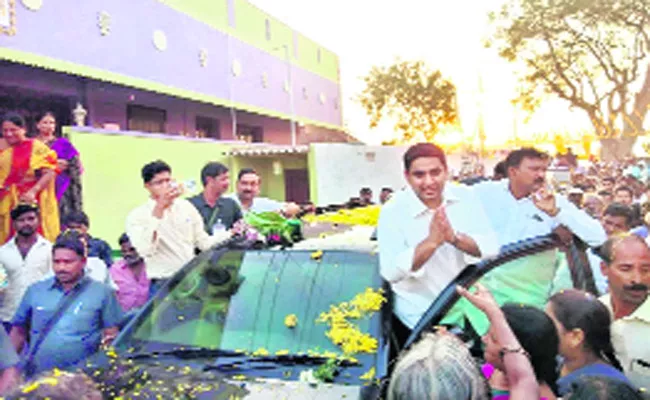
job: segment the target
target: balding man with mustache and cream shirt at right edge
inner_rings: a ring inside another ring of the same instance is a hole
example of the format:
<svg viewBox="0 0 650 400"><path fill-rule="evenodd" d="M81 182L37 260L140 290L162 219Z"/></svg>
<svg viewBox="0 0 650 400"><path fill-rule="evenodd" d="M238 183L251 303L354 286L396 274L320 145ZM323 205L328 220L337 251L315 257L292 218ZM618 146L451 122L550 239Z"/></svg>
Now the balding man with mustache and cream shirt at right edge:
<svg viewBox="0 0 650 400"><path fill-rule="evenodd" d="M612 315L612 344L625 375L650 387L650 247L636 235L609 239L602 246L601 270L609 294L600 298Z"/></svg>

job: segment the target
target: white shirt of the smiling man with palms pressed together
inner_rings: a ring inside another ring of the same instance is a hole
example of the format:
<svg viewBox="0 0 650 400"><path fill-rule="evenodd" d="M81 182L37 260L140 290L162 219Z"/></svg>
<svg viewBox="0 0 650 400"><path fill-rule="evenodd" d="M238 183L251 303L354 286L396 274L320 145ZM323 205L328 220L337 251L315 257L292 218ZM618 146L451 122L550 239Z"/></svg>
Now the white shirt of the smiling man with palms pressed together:
<svg viewBox="0 0 650 400"><path fill-rule="evenodd" d="M443 204L452 228L471 237L481 256L498 253L498 242L480 202L466 187L447 184ZM413 272L415 248L429 235L434 210L411 188L396 193L381 210L378 226L380 272L395 295L394 313L413 328L442 290L475 258L449 243Z"/></svg>

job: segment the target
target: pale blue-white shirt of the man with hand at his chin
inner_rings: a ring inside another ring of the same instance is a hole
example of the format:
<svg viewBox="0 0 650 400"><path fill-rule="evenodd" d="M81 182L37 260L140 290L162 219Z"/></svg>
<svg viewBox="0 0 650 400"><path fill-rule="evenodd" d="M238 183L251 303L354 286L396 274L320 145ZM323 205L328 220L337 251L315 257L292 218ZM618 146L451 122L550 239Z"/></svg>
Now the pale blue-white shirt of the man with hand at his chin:
<svg viewBox="0 0 650 400"><path fill-rule="evenodd" d="M482 182L471 186L497 234L499 245L548 235L559 225L566 226L589 246L600 246L607 240L600 222L577 208L564 196L555 195L560 212L551 217L535 206L530 197L516 199L509 189L510 181Z"/></svg>

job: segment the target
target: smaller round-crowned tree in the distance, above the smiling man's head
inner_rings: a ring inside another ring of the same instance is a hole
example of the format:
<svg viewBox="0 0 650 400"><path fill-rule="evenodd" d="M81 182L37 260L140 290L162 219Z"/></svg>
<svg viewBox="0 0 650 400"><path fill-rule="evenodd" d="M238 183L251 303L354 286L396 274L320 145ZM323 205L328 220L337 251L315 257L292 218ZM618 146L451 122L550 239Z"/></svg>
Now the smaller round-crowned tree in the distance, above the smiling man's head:
<svg viewBox="0 0 650 400"><path fill-rule="evenodd" d="M366 88L358 100L370 116L371 128L388 116L397 121L395 129L404 141L420 134L431 140L441 126L458 120L456 87L422 61L373 67L363 79Z"/></svg>

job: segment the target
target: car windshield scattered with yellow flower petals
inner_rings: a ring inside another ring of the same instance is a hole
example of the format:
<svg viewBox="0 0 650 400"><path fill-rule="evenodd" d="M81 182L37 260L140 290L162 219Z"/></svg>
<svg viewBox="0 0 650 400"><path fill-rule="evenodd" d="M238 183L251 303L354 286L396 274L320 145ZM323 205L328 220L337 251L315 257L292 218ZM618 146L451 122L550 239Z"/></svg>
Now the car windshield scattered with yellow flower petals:
<svg viewBox="0 0 650 400"><path fill-rule="evenodd" d="M184 346L342 355L325 335L328 325L316 320L331 305L381 287L377 257L344 251L317 256L310 251L206 252L170 282L169 291L163 289L116 345L135 346L138 352ZM285 323L292 314L295 327ZM380 320L374 313L354 323L378 337Z"/></svg>

